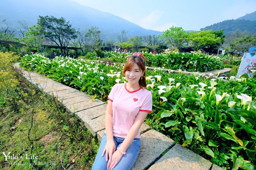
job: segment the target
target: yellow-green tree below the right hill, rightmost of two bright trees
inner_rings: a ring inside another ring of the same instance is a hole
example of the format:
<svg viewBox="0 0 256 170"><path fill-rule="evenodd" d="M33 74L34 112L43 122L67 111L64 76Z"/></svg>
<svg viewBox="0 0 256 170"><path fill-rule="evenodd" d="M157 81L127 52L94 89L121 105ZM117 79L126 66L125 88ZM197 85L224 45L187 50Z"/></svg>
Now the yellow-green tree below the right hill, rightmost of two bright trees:
<svg viewBox="0 0 256 170"><path fill-rule="evenodd" d="M189 40L194 50L203 50L205 47L221 42L221 38L215 37L212 30L190 32Z"/></svg>

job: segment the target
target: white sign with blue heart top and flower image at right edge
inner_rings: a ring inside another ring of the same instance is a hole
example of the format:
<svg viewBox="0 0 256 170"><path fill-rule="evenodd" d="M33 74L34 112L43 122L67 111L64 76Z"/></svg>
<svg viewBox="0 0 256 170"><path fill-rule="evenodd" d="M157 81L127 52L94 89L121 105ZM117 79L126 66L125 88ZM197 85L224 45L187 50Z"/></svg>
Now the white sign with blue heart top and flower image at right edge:
<svg viewBox="0 0 256 170"><path fill-rule="evenodd" d="M251 47L249 53L244 53L242 62L239 66L236 78L240 75L248 74L248 77L252 77L253 72L256 70L256 48Z"/></svg>

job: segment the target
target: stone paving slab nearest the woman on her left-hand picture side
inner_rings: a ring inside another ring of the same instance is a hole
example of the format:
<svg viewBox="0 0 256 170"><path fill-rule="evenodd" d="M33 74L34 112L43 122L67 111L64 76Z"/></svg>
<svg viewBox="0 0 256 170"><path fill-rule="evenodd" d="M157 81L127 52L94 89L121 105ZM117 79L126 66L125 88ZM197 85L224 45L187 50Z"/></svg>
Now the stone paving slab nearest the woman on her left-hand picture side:
<svg viewBox="0 0 256 170"><path fill-rule="evenodd" d="M105 115L102 115L92 120L87 119L84 121L84 125L88 130L90 130L91 134L94 137L97 137L97 132L105 129Z"/></svg>

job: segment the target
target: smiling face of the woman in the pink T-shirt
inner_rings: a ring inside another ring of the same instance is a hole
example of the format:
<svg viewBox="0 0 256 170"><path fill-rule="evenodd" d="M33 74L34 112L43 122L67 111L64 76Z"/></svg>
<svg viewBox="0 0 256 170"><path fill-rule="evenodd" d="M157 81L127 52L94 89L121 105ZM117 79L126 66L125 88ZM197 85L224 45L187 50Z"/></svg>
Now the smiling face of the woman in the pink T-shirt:
<svg viewBox="0 0 256 170"><path fill-rule="evenodd" d="M140 77L142 77L144 72L142 72L139 66L135 63L131 69L125 71L125 78L129 84L138 84Z"/></svg>

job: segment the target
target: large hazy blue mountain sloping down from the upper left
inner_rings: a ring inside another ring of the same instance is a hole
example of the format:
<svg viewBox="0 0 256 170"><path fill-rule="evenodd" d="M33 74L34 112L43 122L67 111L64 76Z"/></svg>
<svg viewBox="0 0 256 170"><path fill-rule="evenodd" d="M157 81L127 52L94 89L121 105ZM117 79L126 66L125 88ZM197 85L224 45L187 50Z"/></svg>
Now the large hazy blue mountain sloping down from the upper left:
<svg viewBox="0 0 256 170"><path fill-rule="evenodd" d="M28 26L37 24L38 16L64 17L75 29L85 32L92 26L96 26L104 33L104 41L113 39L117 41L117 35L122 30L128 31L127 36L142 36L148 34L160 35L162 32L144 29L130 21L117 17L107 12L102 12L71 0L8 0L1 2L0 20L5 20L9 30L23 29L19 22L26 22ZM0 27L7 28L0 22Z"/></svg>

